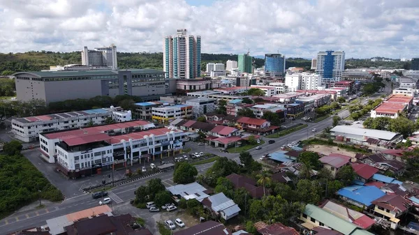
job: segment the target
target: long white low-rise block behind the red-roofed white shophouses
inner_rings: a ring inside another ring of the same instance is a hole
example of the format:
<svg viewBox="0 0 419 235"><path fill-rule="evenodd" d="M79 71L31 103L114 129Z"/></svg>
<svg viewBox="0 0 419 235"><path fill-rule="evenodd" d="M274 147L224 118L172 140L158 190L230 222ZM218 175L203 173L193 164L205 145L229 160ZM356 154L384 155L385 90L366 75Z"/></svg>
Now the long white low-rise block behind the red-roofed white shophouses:
<svg viewBox="0 0 419 235"><path fill-rule="evenodd" d="M89 109L83 111L27 116L12 120L12 131L16 139L23 142L34 142L43 132L69 130L87 126L101 125L107 119L115 122L131 121L131 111L121 107Z"/></svg>

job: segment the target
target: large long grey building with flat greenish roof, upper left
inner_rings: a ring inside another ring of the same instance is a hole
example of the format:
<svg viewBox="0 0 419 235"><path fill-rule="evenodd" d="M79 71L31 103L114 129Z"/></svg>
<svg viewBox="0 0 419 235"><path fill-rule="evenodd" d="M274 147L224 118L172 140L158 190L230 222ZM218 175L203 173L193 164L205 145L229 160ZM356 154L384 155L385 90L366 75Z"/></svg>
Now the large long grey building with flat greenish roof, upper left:
<svg viewBox="0 0 419 235"><path fill-rule="evenodd" d="M162 70L84 70L15 73L17 100L51 103L95 96L131 95L157 100L176 92L176 79Z"/></svg>

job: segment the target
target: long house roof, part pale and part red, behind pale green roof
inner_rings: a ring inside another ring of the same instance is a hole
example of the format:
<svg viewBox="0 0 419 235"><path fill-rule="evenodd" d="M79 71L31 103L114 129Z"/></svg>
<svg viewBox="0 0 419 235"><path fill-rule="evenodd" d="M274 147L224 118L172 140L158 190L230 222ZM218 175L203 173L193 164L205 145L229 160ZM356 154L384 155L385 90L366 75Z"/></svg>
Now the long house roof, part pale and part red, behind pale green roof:
<svg viewBox="0 0 419 235"><path fill-rule="evenodd" d="M336 202L332 202L330 200L326 200L318 207L343 220L351 222L358 227L362 227L362 229L368 230L372 227L372 225L374 225L374 220L369 218L367 215L348 209L346 206L342 206L341 204L337 204Z"/></svg>

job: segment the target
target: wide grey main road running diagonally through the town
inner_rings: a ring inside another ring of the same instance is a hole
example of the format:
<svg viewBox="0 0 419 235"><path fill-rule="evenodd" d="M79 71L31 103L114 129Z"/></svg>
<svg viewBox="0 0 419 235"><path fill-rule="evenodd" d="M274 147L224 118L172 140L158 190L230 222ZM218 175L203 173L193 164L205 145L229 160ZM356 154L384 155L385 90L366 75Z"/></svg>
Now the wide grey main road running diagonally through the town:
<svg viewBox="0 0 419 235"><path fill-rule="evenodd" d="M339 112L338 115L341 116L341 118L345 118L349 115L349 112L347 110L343 110ZM260 158L260 156L265 155L266 153L278 151L284 144L307 139L308 137L311 137L311 135L315 134L314 132L311 132L313 128L316 128L318 131L321 131L328 126L332 126L332 117L329 117L328 119L325 119L318 123L307 124L309 125L307 128L303 128L302 130L298 130L284 137L275 138L274 144L265 143L263 144L262 149L251 149L249 152L251 153L253 158L257 159ZM219 156L226 156L230 159L237 159L239 157L238 153L220 153L219 151L217 151L217 149L214 149L212 147L204 147L203 149L202 146L196 146L192 143L188 144L189 145L187 147L191 146L192 151L205 150L205 152L207 153L215 153ZM213 162L210 162L204 165L198 165L196 168L198 169L198 172L200 174L203 174L207 168L212 166L212 164ZM129 200L134 198L135 189L138 188L139 185L144 185L145 183L147 183L149 179L160 178L166 186L174 185L175 183L173 183L172 181L172 174L173 172L163 172L156 176L150 176L145 179L140 179L138 181L126 183L124 185L118 186L117 188L113 188L109 191L109 197L111 197L112 199L111 206L114 210L117 210L119 206L123 206L129 203ZM50 179L57 177L48 176L47 178ZM45 209L39 209L38 211L16 213L4 220L0 220L0 234L8 234L19 229L45 225L45 220L55 218L61 215L66 215L68 213L73 213L75 211L81 211L83 209L98 206L99 201L100 199L92 199L90 194L82 194L80 192L79 195L66 198L64 202L62 202L61 204L55 204L54 206L49 206Z"/></svg>

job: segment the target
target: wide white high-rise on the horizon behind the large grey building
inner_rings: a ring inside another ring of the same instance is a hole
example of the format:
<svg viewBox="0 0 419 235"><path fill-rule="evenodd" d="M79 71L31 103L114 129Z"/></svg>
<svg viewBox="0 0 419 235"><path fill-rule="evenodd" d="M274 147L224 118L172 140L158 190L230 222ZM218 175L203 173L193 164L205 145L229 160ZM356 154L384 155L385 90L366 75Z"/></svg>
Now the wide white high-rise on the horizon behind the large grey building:
<svg viewBox="0 0 419 235"><path fill-rule="evenodd" d="M84 47L82 50L82 65L117 70L117 46L112 44L109 47L96 47L94 50Z"/></svg>

